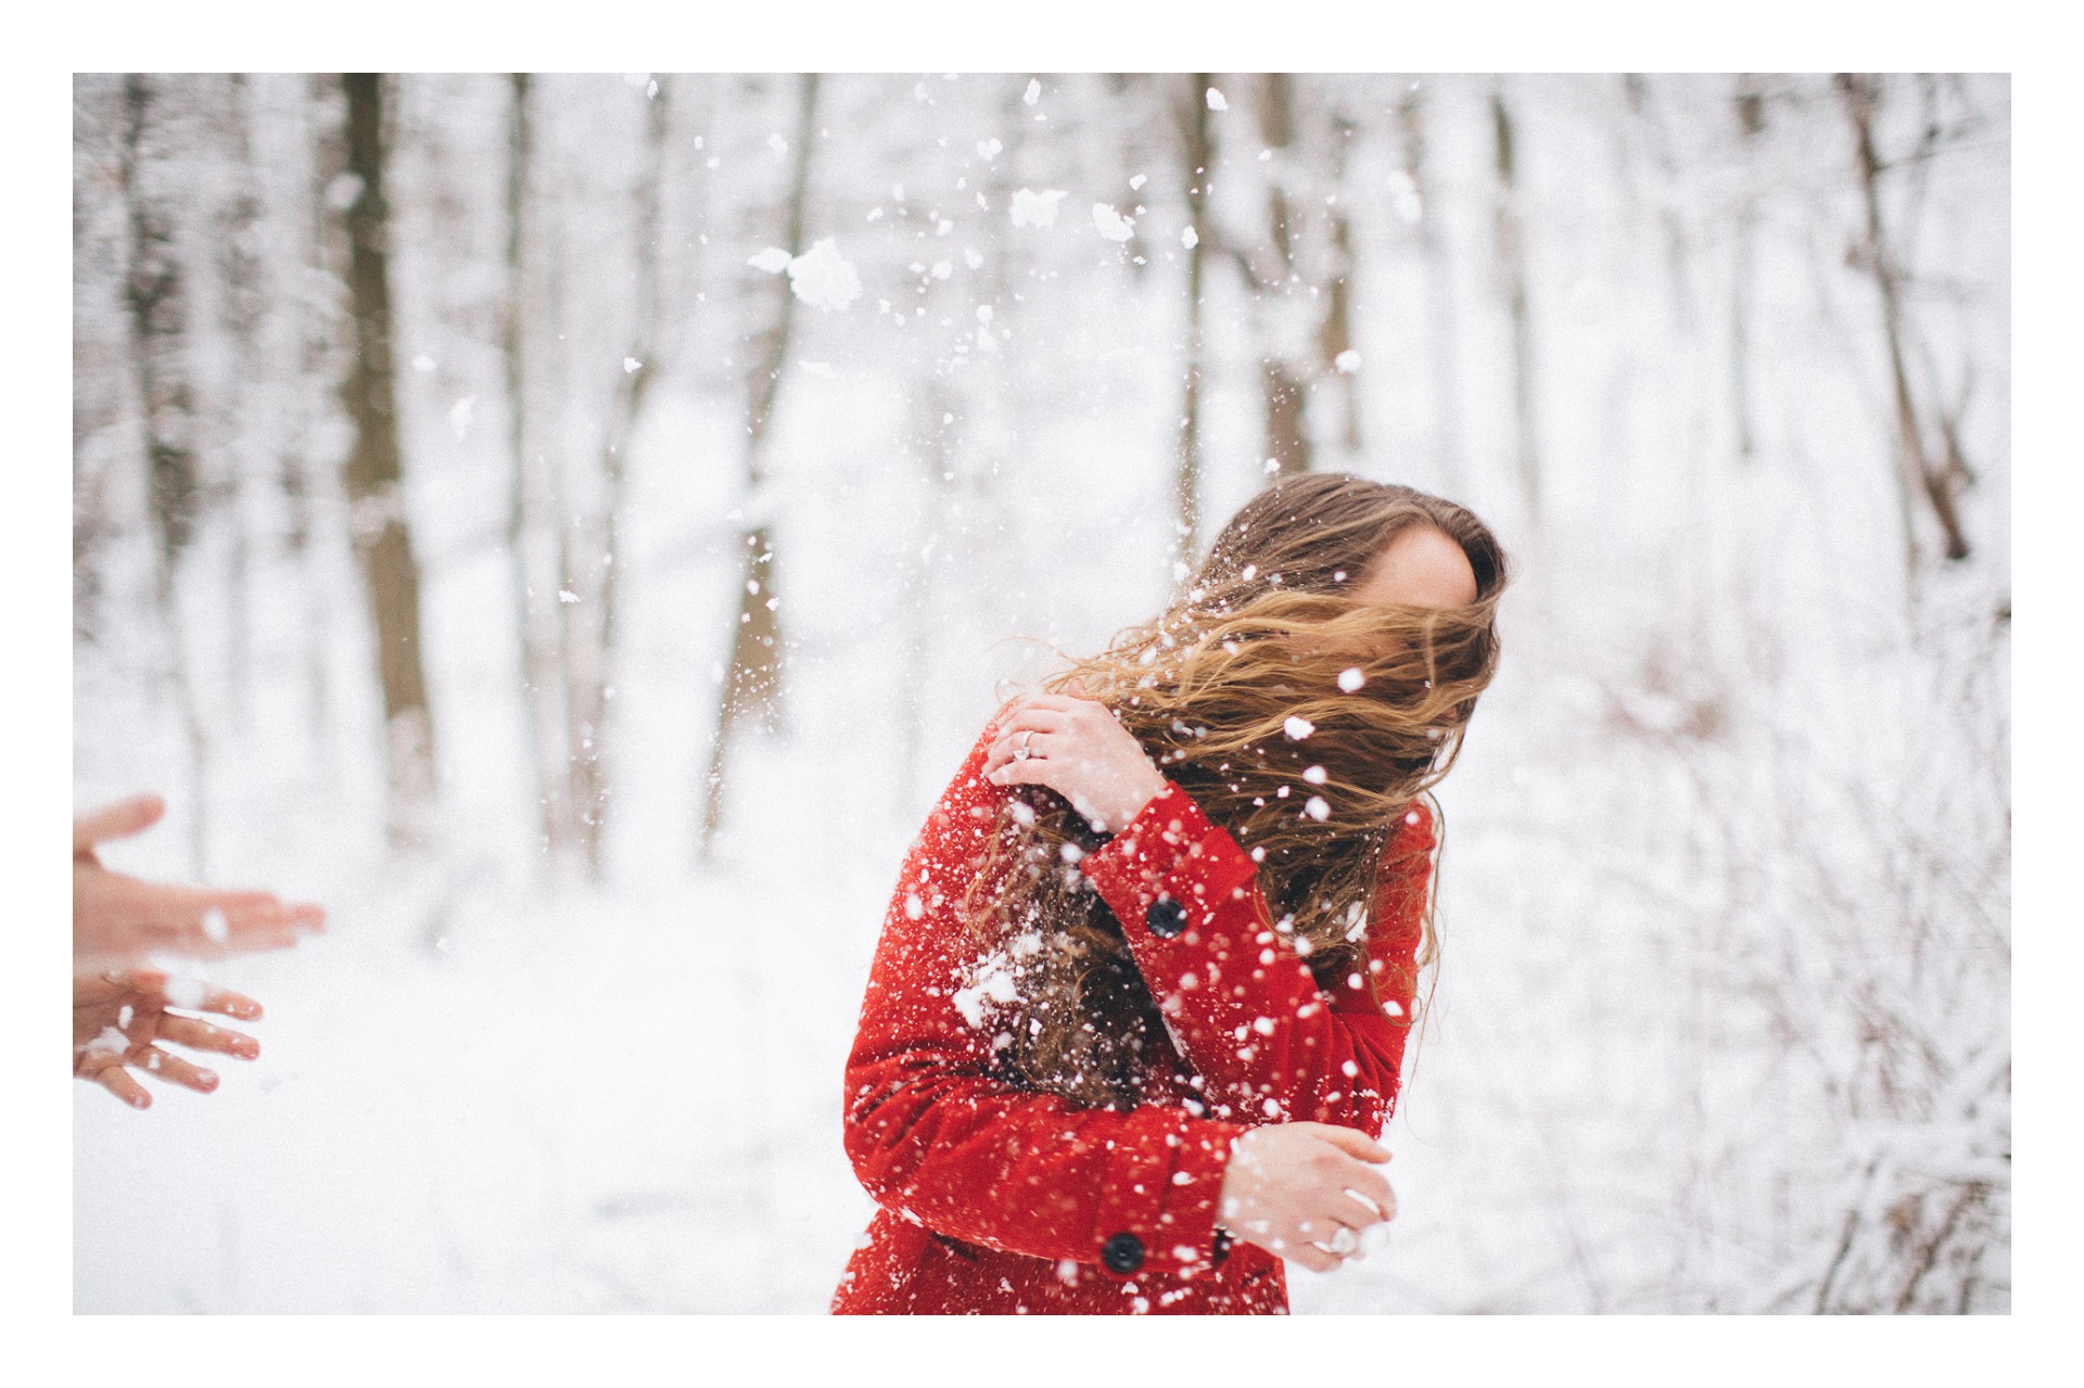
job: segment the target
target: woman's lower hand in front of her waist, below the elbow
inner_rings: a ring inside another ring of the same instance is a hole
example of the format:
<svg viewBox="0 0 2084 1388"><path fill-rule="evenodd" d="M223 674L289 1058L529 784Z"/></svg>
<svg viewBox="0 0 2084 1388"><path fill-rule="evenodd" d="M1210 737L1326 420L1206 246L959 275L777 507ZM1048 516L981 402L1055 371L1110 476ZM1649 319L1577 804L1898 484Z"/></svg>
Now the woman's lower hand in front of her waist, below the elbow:
<svg viewBox="0 0 2084 1388"><path fill-rule="evenodd" d="M1332 1271L1361 1246L1361 1230L1396 1217L1390 1182L1375 1169L1388 1159L1350 1127L1255 1127L1230 1148L1217 1221L1273 1257Z"/></svg>

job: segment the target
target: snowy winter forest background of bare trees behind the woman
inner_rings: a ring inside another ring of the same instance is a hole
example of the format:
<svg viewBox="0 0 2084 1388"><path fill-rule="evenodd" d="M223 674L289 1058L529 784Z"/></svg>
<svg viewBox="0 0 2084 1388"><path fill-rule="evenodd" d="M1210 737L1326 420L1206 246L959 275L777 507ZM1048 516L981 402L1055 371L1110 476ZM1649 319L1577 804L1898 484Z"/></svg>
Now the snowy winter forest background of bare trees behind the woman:
<svg viewBox="0 0 2084 1388"><path fill-rule="evenodd" d="M821 1311L998 698L1269 473L1517 563L1334 1311L2009 1311L2005 77L73 85L73 790L327 904L79 1311Z"/></svg>

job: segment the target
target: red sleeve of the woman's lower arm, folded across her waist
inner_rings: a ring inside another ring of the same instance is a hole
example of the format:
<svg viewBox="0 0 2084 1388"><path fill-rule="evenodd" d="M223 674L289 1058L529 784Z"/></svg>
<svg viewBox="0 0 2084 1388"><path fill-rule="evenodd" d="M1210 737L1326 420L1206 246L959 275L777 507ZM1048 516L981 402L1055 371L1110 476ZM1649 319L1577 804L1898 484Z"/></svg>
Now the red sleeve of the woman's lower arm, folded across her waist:
<svg viewBox="0 0 2084 1388"><path fill-rule="evenodd" d="M1109 1275L1213 1265L1215 1207L1242 1123L1184 1107L1084 1109L998 1077L990 1025L957 992L977 959L963 892L1007 788L971 750L904 859L846 1061L846 1152L867 1192L929 1230L1094 1263Z"/></svg>

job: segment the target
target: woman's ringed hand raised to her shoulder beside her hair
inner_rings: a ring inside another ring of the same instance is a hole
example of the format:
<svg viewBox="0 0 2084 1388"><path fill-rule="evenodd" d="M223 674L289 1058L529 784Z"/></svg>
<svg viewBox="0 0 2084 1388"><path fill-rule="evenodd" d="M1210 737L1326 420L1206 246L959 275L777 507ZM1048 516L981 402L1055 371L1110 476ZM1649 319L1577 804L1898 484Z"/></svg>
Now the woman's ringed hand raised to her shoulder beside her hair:
<svg viewBox="0 0 2084 1388"><path fill-rule="evenodd" d="M1165 777L1107 704L1063 694L1013 704L984 775L994 786L1048 786L1100 834L1119 834L1165 790Z"/></svg>

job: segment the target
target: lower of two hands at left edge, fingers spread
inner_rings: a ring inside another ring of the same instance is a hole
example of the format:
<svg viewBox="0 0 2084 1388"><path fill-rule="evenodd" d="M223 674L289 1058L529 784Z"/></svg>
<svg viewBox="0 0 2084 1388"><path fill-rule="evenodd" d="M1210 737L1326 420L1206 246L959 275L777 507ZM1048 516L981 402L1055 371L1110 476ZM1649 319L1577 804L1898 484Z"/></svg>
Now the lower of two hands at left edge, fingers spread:
<svg viewBox="0 0 2084 1388"><path fill-rule="evenodd" d="M169 980L158 969L75 973L73 1073L100 1084L133 1109L150 1109L152 1096L125 1069L127 1065L142 1065L163 1080L204 1094L217 1088L215 1073L160 1050L156 1042L217 1050L244 1061L260 1055L260 1042L252 1036L169 1013L167 1007L221 1013L242 1021L260 1017L260 1005L244 994L192 980Z"/></svg>

